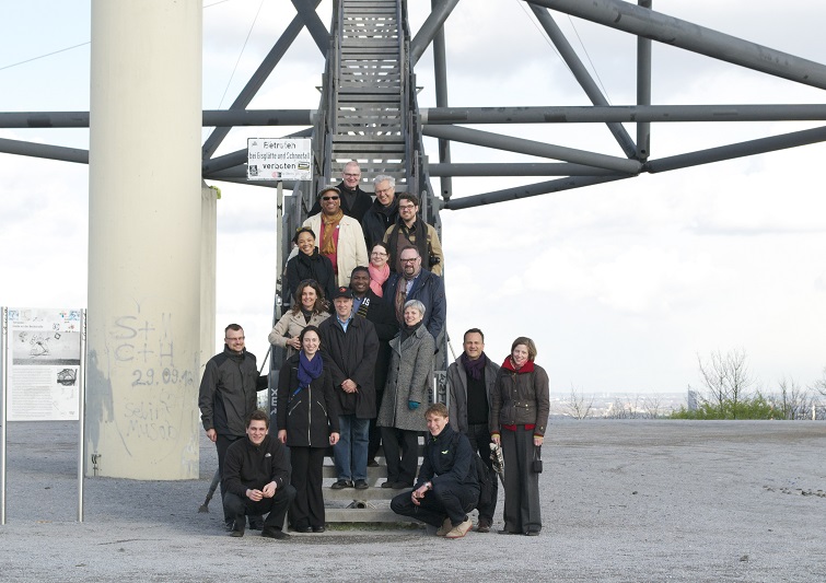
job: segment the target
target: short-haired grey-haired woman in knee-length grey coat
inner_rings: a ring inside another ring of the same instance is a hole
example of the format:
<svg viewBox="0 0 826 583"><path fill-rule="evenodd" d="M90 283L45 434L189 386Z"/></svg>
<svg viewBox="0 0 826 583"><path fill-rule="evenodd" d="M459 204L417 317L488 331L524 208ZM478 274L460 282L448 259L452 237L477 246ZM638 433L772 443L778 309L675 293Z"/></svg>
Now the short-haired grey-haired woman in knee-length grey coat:
<svg viewBox="0 0 826 583"><path fill-rule="evenodd" d="M419 407L428 401L435 342L422 326L424 304L405 304L402 331L391 340L391 366L375 424L382 428L387 481L382 488L410 488L419 464L419 434L428 429Z"/></svg>

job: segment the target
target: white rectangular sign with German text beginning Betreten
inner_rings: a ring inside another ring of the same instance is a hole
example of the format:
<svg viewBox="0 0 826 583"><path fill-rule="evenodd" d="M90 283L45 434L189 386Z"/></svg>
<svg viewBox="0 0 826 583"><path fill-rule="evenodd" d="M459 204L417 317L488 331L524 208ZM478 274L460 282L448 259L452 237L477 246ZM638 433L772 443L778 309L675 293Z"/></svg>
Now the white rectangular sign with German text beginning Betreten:
<svg viewBox="0 0 826 583"><path fill-rule="evenodd" d="M248 180L312 180L310 138L249 138L246 142Z"/></svg>

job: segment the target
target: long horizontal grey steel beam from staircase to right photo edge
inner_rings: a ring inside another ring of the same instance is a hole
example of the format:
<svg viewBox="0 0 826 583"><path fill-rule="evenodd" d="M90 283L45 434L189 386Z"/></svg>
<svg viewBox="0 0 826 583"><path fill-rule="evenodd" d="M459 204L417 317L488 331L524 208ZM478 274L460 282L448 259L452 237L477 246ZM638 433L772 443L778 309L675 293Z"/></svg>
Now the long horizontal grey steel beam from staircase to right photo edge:
<svg viewBox="0 0 826 583"><path fill-rule="evenodd" d="M429 107L426 126L452 124L604 124L607 121L823 121L825 104L613 105L610 107Z"/></svg>

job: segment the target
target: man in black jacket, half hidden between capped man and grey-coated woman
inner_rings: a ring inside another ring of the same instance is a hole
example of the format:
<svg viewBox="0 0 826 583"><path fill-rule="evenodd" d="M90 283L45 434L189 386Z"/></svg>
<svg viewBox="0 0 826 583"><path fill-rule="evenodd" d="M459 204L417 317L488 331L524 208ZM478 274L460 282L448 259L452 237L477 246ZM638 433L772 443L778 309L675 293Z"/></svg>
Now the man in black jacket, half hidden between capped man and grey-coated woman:
<svg viewBox="0 0 826 583"><path fill-rule="evenodd" d="M362 316L373 323L379 337L379 352L375 359L375 404L381 405L384 396L384 385L387 382L387 366L391 364L389 341L398 334L396 314L384 299L379 298L370 289L370 271L367 267L357 267L350 275L350 289L353 295L352 310L357 316ZM370 420L370 446L368 447L368 466L377 466L375 454L382 443L382 433L375 427L375 418Z"/></svg>

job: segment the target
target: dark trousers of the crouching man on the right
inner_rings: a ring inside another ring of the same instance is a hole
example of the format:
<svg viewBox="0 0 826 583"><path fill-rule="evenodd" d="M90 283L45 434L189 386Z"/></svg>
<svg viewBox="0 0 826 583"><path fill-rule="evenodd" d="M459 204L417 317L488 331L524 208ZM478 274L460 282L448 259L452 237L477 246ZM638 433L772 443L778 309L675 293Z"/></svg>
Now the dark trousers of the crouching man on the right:
<svg viewBox="0 0 826 583"><path fill-rule="evenodd" d="M431 526L442 526L449 517L453 526L467 520L467 513L476 508L479 490L455 481L442 480L433 483L433 489L424 492L419 505L410 499L411 490L391 500L391 510L402 516L410 516Z"/></svg>

